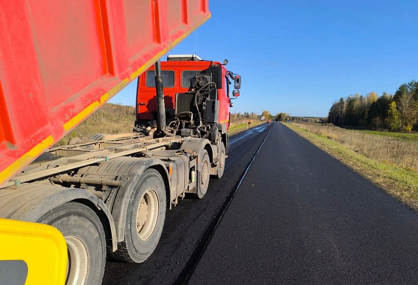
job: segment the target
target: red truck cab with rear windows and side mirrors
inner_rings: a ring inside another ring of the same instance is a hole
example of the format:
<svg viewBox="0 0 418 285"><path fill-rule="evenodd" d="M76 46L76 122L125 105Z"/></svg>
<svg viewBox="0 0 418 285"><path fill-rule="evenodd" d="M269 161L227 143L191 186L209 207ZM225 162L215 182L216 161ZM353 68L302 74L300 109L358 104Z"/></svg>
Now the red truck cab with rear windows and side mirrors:
<svg viewBox="0 0 418 285"><path fill-rule="evenodd" d="M193 88L192 78L196 74L204 73L211 74L213 81L217 84L209 98L219 101L219 107L216 107L218 109L216 118L213 121L214 123L225 124L226 130L229 128L229 107L232 106L231 99L234 99L231 98L230 79L234 80L234 87L239 88L240 76L234 78L233 73L226 69L225 64L200 60L196 55L169 55L166 62L161 62L161 70L167 121L170 121L176 114L177 94L189 92ZM239 81L239 85L236 81ZM238 91L233 93L235 97L239 96ZM156 112L155 78L154 67L152 66L138 79L137 122L156 120Z"/></svg>

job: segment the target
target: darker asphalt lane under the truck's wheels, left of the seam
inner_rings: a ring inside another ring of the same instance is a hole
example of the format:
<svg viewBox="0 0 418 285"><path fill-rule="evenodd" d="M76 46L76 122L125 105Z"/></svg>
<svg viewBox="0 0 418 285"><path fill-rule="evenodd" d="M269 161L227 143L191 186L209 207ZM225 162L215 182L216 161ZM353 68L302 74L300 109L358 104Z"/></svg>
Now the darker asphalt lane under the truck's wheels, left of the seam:
<svg viewBox="0 0 418 285"><path fill-rule="evenodd" d="M202 200L185 198L167 210L159 245L144 263L108 261L102 285L184 283L266 134L261 125L232 136L222 179L210 180Z"/></svg>

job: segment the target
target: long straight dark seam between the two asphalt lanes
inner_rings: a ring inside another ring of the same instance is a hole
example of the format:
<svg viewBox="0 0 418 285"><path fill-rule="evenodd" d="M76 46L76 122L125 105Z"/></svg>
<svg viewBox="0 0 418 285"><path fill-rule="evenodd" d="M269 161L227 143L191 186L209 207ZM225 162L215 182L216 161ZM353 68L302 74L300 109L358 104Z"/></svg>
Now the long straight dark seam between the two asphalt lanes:
<svg viewBox="0 0 418 285"><path fill-rule="evenodd" d="M220 216L219 216L219 218L218 218L218 220L217 220L217 222L216 222L216 224L215 224L215 226L214 226L214 228L213 228L213 230L212 230L211 234L207 237L207 239L206 239L206 241L205 241L205 243L204 243L204 245L203 245L203 247L202 247L202 249L201 249L201 251L200 251L199 257L196 259L195 264L194 264L194 265L193 265L193 267L189 270L189 272L188 272L188 274L186 275L185 279L184 279L181 283L179 283L179 284L181 284L181 285L186 285L186 284L189 282L189 279L190 279L190 277L192 276L193 272L195 271L197 264L200 262L200 259L202 258L202 256L203 256L204 252L206 251L207 246L209 245L210 241L212 240L212 237L214 236L214 234L215 234L216 230L218 229L218 226L219 226L219 224L221 223L221 221L222 221L222 219L223 219L223 217L224 217L224 215L225 215L226 211L228 210L229 206L231 205L233 198L234 198L234 197L235 197L235 195L237 194L237 192L238 192L238 190L239 190L239 188L240 188L240 186L241 186L242 182L244 181L244 178L247 176L248 170L250 169L250 167L251 167L252 163L254 162L255 158L257 157L258 152L259 152L259 151L260 151L260 149L263 147L263 145L264 145L264 143L265 143L265 141L266 141L267 137L269 136L269 134L270 134L270 131L271 131L272 127L273 127L273 125L269 128L269 131L268 131L268 133L267 133L266 137L263 139L263 142L262 142L262 143L260 144L260 146L258 147L258 149L257 149L257 151L255 152L254 156L252 157L252 159L251 159L250 163L248 163L248 165L247 165L247 167L246 167L246 169L245 169L244 174L241 176L240 182L238 183L237 187L233 190L232 195L230 196L228 203L226 204L226 206L225 206L225 207L224 207L224 209L222 210L222 212L221 212L221 214L220 214ZM174 282L173 284L176 284L176 283L177 283L177 282Z"/></svg>

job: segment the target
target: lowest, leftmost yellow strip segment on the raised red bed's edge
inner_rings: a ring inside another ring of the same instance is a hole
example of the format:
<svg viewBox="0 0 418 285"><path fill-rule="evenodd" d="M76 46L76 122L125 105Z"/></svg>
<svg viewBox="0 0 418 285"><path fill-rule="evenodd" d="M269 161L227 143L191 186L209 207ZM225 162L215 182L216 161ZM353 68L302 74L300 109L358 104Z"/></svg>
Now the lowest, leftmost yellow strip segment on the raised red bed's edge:
<svg viewBox="0 0 418 285"><path fill-rule="evenodd" d="M12 164L10 164L6 169L0 172L0 185L9 179L14 173L16 173L21 167L25 164L31 162L35 157L43 152L44 149L49 147L54 143L54 138L52 135L49 135L44 140L42 140L38 145L36 145L29 152L22 155Z"/></svg>

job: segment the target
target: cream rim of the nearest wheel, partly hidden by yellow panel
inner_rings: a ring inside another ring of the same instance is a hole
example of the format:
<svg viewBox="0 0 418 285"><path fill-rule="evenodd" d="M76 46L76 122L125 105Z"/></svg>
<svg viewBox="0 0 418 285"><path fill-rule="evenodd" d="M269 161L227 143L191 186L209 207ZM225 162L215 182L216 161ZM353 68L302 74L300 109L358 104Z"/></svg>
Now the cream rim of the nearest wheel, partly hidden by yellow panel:
<svg viewBox="0 0 418 285"><path fill-rule="evenodd" d="M77 237L65 237L68 250L66 285L85 285L89 273L89 252Z"/></svg>

